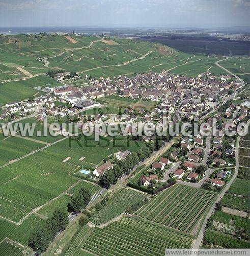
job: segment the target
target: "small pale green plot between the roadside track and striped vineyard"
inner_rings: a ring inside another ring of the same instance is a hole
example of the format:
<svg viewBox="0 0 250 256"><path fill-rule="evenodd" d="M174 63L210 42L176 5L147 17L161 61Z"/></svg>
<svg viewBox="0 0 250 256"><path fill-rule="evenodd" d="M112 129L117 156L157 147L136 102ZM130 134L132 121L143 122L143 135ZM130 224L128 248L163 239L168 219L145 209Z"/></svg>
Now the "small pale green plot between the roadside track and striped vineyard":
<svg viewBox="0 0 250 256"><path fill-rule="evenodd" d="M143 199L146 195L132 189L122 189L110 197L105 206L94 214L90 221L100 225L122 214L128 206L131 206Z"/></svg>

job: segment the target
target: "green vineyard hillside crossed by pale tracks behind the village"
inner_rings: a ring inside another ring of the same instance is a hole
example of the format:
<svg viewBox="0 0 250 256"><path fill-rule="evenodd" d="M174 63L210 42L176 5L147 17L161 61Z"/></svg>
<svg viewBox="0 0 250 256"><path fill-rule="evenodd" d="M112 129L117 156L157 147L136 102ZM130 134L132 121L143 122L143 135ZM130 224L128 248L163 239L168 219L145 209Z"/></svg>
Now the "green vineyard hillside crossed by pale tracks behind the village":
<svg viewBox="0 0 250 256"><path fill-rule="evenodd" d="M37 86L59 86L59 82L44 75L51 69L99 78L162 69L178 68L179 72L191 65L188 73L193 76L207 71L215 61L147 41L71 38L73 42L56 34L0 36L0 106L39 96L43 92L36 90Z"/></svg>

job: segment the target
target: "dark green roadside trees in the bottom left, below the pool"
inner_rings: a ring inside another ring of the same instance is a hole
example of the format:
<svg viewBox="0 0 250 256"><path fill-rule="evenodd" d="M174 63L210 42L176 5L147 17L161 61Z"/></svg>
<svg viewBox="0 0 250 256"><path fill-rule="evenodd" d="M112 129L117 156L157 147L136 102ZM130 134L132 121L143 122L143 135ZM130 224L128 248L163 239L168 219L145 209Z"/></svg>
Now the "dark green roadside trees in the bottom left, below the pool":
<svg viewBox="0 0 250 256"><path fill-rule="evenodd" d="M68 204L68 211L74 212L77 215L88 205L90 200L90 191L81 187L77 193L72 195L71 201ZM82 216L79 220L80 225L85 225L87 222L88 218L85 216ZM49 218L34 227L29 238L29 246L38 254L46 251L58 232L64 231L67 224L68 212L64 208L56 208L52 218Z"/></svg>

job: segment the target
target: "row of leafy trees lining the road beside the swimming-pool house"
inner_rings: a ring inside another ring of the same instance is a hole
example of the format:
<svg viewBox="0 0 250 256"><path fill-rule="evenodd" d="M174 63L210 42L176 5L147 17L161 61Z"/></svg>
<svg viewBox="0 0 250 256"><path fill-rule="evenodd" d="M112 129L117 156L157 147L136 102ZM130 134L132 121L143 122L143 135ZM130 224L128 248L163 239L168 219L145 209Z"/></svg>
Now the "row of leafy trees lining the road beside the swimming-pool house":
<svg viewBox="0 0 250 256"><path fill-rule="evenodd" d="M111 184L116 184L118 178L122 177L122 174L129 174L138 162L148 158L154 149L154 143L149 142L147 147L143 147L137 152L132 152L124 160L116 160L113 170L107 170L100 176L99 185L109 188Z"/></svg>

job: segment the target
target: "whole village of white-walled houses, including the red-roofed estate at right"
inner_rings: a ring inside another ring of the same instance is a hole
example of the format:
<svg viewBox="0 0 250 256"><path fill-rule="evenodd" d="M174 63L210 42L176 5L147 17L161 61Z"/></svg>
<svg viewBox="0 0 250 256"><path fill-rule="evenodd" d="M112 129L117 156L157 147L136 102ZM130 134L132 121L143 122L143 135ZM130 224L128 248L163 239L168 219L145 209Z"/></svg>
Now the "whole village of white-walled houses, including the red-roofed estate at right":
<svg viewBox="0 0 250 256"><path fill-rule="evenodd" d="M235 166L235 136L226 136L223 127L228 122L235 125L244 122L249 115L247 104L233 101L242 90L242 84L233 76L215 76L206 72L196 78L187 78L162 71L160 74L148 73L135 77L91 79L85 86L71 86L65 80L69 75L70 73L56 74L54 79L63 82L63 85L38 88L46 92L38 98L6 104L0 120L31 115L39 121L45 117L74 117L80 129L84 129L88 123L112 125L123 122L131 124L129 136L134 123L156 124L167 117L173 123L193 122L198 118L211 124L214 117L218 120L217 136L179 136L177 143L159 160L154 161L151 168L137 177L132 185L142 190L161 188L162 185L173 182L191 183L193 187L207 190L219 190L225 185L233 170L230 167ZM130 102L134 100L135 104L130 107L124 101L119 112L100 111L108 109L103 101L107 97L127 99ZM98 111L88 112L89 110ZM143 140L155 141L156 135L144 136ZM160 143L162 146L166 142L162 140ZM117 152L114 156L125 160L130 154L126 150ZM107 160L90 177L98 179L112 168L112 162Z"/></svg>

